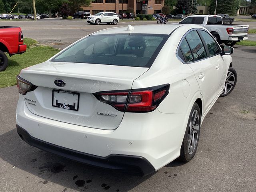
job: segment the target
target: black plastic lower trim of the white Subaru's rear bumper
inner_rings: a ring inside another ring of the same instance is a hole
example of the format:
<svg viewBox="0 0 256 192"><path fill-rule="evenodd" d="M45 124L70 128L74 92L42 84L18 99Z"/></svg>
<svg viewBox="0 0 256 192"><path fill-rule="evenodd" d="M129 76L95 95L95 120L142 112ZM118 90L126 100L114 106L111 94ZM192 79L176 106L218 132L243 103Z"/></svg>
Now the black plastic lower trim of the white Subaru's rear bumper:
<svg viewBox="0 0 256 192"><path fill-rule="evenodd" d="M27 142L29 145L64 158L68 158L70 160L91 166L122 170L124 172L129 172L140 176L146 176L155 172L154 167L145 158L140 156L111 154L107 157L100 157L86 154L36 139L20 126L16 125L16 127L22 140Z"/></svg>

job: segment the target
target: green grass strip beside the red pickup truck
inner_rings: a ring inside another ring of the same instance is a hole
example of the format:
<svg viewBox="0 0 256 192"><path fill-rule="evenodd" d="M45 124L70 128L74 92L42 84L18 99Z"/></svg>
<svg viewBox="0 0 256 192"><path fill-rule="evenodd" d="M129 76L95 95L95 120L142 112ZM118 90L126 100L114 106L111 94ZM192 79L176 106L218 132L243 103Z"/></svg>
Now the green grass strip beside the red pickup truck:
<svg viewBox="0 0 256 192"><path fill-rule="evenodd" d="M24 54L17 54L11 58L8 56L8 67L0 72L0 88L16 85L16 76L23 68L44 62L59 50L50 46L35 46L37 42L30 38L24 39L28 46Z"/></svg>

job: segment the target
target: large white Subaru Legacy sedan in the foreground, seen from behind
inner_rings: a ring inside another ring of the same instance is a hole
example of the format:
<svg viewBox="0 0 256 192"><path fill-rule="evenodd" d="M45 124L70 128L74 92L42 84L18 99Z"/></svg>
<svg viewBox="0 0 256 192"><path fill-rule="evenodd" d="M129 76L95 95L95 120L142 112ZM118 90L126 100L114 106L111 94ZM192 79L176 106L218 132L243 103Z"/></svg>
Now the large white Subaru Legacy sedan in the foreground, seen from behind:
<svg viewBox="0 0 256 192"><path fill-rule="evenodd" d="M232 52L196 25L95 32L20 72L17 132L47 152L133 174L188 162L206 114L236 85Z"/></svg>

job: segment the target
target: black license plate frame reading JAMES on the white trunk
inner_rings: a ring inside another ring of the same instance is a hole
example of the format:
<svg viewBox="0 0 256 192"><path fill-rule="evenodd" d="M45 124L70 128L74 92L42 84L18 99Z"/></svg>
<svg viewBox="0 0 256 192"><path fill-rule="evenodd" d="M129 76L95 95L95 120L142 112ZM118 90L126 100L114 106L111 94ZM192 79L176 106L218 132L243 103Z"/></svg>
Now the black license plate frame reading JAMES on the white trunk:
<svg viewBox="0 0 256 192"><path fill-rule="evenodd" d="M73 105L72 104L66 104L66 103L59 103L58 99L54 98L55 94L59 94L59 93L63 94L62 97L65 96L65 94L68 97L70 97L70 95L73 95L73 96L76 95L75 98L74 98L74 101L73 101ZM67 94L70 94L70 95L67 95ZM57 108L62 108L62 109L65 109L65 110L78 111L78 109L79 109L79 97L80 97L80 94L78 92L53 89L52 90L52 106L57 107ZM76 99L77 99L77 106L76 106Z"/></svg>

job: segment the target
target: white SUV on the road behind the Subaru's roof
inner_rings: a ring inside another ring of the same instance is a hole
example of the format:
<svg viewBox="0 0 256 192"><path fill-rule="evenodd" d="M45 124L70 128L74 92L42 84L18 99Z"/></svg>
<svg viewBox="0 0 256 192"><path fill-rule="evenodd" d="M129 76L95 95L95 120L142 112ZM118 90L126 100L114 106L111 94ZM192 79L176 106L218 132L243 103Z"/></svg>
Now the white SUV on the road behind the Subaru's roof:
<svg viewBox="0 0 256 192"><path fill-rule="evenodd" d="M99 12L95 15L88 16L87 22L90 24L99 25L101 23L112 23L116 25L119 22L119 17L114 12Z"/></svg>

